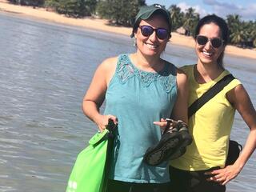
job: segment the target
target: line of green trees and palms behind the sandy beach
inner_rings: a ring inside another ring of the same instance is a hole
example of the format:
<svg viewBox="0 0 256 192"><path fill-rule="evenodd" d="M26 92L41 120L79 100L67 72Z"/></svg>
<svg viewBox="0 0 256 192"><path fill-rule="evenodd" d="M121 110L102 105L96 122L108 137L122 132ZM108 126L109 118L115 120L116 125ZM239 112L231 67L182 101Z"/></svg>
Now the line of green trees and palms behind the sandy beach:
<svg viewBox="0 0 256 192"><path fill-rule="evenodd" d="M67 17L83 18L96 16L106 18L110 24L118 26L132 26L134 17L145 0L8 0L22 6L42 6L54 10ZM190 7L183 12L176 5L171 5L168 10L173 22L173 30L182 27L186 35L193 35L200 15ZM230 44L242 47L256 47L256 21L245 22L238 14L226 16L230 27Z"/></svg>

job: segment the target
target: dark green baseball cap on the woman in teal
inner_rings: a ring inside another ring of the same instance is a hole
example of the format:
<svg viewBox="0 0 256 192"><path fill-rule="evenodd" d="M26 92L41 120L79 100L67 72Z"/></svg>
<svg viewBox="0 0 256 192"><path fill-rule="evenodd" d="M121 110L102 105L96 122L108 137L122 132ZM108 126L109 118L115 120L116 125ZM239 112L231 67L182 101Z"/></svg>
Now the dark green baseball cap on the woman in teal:
<svg viewBox="0 0 256 192"><path fill-rule="evenodd" d="M171 30L170 12L166 10L165 6L162 6L160 4L153 4L151 6L142 6L135 17L134 27L136 26L139 20L146 20L150 18L150 16L154 14L156 11L161 12L162 15L166 17L166 21L168 22L169 28ZM130 35L131 38L134 37L134 27L133 27L133 32Z"/></svg>

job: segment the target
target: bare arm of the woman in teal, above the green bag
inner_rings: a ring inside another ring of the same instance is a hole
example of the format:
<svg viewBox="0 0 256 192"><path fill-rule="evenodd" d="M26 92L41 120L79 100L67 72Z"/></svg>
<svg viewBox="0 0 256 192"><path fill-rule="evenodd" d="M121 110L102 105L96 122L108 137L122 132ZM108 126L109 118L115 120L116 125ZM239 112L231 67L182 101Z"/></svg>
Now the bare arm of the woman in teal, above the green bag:
<svg viewBox="0 0 256 192"><path fill-rule="evenodd" d="M102 115L99 112L104 102L107 86L114 75L117 58L108 58L95 71L89 89L83 98L82 110L90 120L95 122L100 131L106 128L109 118L117 123L117 118L111 114Z"/></svg>

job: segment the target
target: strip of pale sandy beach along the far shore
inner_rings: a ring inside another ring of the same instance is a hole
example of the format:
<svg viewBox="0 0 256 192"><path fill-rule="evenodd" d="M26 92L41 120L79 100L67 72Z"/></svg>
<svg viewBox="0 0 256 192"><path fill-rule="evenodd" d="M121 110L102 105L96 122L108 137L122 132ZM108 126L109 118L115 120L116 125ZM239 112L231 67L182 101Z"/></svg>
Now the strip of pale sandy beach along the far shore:
<svg viewBox="0 0 256 192"><path fill-rule="evenodd" d="M0 11L15 14L18 17L33 17L50 22L61 23L70 26L81 26L92 30L103 30L110 33L124 34L129 36L130 27L109 26L107 20L98 18L67 18L64 15L47 11L44 8L36 8L30 6L16 6L9 4L5 0L0 0ZM194 39L182 34L172 33L170 43L180 46L194 47ZM236 46L226 46L226 54L233 54L238 57L256 58L256 50L242 49Z"/></svg>

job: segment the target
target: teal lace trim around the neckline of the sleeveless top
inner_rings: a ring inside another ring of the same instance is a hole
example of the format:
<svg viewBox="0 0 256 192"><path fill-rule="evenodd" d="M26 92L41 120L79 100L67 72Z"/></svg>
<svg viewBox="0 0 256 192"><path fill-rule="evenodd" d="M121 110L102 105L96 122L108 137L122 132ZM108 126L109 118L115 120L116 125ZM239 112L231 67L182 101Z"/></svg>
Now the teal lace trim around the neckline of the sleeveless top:
<svg viewBox="0 0 256 192"><path fill-rule="evenodd" d="M159 81L161 82L162 86L164 86L166 92L170 93L170 90L172 90L176 85L176 79L173 74L176 74L176 72L174 72L174 66L170 66L171 70L169 70L169 66L170 65L166 63L165 67L158 73L146 72L139 70L136 66L134 66L132 62L130 62L130 58L127 54L122 54L118 58L116 74L122 84L125 84L129 78L134 76L140 79L142 86L144 87L150 86L150 84L154 81Z"/></svg>

